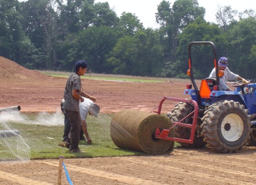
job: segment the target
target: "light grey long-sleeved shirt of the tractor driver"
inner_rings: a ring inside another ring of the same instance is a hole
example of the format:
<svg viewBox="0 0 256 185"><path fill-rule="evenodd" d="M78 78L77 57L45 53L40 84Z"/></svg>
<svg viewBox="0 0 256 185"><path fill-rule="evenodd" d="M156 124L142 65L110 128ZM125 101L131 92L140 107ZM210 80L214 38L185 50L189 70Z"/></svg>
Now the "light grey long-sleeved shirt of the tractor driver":
<svg viewBox="0 0 256 185"><path fill-rule="evenodd" d="M211 71L211 74L209 75L210 78L216 78L215 68ZM239 75L234 74L229 70L228 67L226 67L224 71L223 77L219 77L219 90L225 91L229 88L227 86L227 81L237 81L237 78Z"/></svg>

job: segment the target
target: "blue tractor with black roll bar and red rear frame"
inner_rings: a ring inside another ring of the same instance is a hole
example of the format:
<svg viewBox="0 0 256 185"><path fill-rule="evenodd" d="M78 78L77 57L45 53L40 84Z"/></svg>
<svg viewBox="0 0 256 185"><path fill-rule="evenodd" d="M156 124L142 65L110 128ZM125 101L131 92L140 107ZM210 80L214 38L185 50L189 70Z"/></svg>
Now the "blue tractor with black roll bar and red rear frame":
<svg viewBox="0 0 256 185"><path fill-rule="evenodd" d="M191 57L193 45L210 45L213 49L217 78L202 79L198 88L194 79ZM232 84L234 91L220 91L219 77L225 71L218 69L217 49L213 42L191 42L188 46L191 84L186 86L188 99L164 97L158 106L158 114L164 100L176 100L174 109L167 114L174 126L175 137L168 130L155 132L155 138L175 140L186 148L210 147L220 153L233 153L245 144L256 145L256 84ZM194 88L193 88L194 87Z"/></svg>

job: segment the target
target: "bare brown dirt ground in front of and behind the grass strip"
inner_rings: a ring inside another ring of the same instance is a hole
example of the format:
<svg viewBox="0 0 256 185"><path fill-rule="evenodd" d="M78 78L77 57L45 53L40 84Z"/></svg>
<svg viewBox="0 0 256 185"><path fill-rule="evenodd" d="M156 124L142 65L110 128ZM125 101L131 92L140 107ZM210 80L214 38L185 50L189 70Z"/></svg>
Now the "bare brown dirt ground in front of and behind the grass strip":
<svg viewBox="0 0 256 185"><path fill-rule="evenodd" d="M97 97L105 113L131 108L149 112L163 96L182 95L189 81L159 83L82 79L83 90ZM60 111L66 78L27 70L0 57L0 107L19 105L21 112ZM169 102L162 112L177 102ZM175 148L166 155L65 159L74 184L255 184L256 148L237 154L216 154ZM26 164L0 164L0 184L56 184L58 160L31 160ZM68 184L65 173L62 184Z"/></svg>

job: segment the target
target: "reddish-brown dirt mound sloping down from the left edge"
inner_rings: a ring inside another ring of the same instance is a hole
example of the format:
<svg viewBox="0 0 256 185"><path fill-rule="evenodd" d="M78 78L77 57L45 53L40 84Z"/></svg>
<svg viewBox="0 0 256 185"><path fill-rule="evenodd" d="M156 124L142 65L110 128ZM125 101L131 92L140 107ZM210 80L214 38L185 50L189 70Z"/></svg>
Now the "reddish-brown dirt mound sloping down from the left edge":
<svg viewBox="0 0 256 185"><path fill-rule="evenodd" d="M28 70L18 63L0 56L0 79L49 79L50 76Z"/></svg>

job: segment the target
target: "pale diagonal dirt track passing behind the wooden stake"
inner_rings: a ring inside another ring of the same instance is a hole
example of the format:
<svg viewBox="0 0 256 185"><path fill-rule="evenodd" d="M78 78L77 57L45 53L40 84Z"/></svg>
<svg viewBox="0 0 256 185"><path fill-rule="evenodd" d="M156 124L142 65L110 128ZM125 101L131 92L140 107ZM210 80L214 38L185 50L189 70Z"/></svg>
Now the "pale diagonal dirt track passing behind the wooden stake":
<svg viewBox="0 0 256 185"><path fill-rule="evenodd" d="M44 163L50 166L55 166L58 167L57 162L43 162L43 161L37 161L38 163ZM87 174L87 175L93 175L93 176L98 176L100 178L105 178L105 179L110 179L114 180L116 182L121 182L121 183L126 183L126 184L160 184L158 182L154 182L152 180L146 180L146 179L141 179L141 178L134 178L133 176L126 176L126 175L119 175L119 174L114 174L111 172L107 171L101 171L101 170L94 170L91 168L84 168L84 167L78 167L74 166L71 164L65 164L66 167L69 168L71 171L76 171L80 172L82 174ZM162 183L161 183L162 184Z"/></svg>

